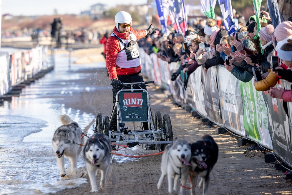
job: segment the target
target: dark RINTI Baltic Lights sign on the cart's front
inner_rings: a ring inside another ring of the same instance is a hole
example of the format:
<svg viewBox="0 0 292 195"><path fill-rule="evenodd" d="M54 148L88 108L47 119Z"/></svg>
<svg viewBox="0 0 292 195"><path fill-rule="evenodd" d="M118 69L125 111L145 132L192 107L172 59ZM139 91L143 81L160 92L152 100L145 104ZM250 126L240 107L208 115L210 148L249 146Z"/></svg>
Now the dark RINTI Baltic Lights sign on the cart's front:
<svg viewBox="0 0 292 195"><path fill-rule="evenodd" d="M147 120L147 92L120 92L119 103L123 122Z"/></svg>

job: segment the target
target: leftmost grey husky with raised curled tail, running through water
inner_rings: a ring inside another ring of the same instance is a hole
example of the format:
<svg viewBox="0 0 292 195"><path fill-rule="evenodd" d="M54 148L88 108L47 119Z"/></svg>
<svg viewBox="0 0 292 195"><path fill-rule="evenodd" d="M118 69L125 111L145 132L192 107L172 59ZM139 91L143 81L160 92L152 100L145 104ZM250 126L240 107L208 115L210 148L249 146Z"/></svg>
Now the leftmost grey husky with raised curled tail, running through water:
<svg viewBox="0 0 292 195"><path fill-rule="evenodd" d="M69 157L72 167L77 167L77 159L82 151L83 140L81 140L82 130L79 125L71 120L68 115L60 116L62 126L54 133L52 144L57 156L57 163L61 172L61 177L66 175L64 167L64 156Z"/></svg>

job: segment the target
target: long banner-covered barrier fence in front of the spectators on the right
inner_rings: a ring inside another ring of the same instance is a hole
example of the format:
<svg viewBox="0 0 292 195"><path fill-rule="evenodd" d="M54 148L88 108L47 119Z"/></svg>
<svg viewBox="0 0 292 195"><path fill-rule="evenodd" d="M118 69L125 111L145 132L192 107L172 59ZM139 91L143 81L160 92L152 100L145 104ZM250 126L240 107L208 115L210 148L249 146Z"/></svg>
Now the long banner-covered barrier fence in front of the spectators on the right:
<svg viewBox="0 0 292 195"><path fill-rule="evenodd" d="M272 150L292 167L291 102L255 90L254 79L242 82L223 65L209 68L207 74L202 66L198 67L189 76L184 90L179 77L170 80L180 66L178 62L168 63L156 54L148 55L142 48L140 51L143 74L168 90L175 103L190 105L202 117ZM279 80L278 86L291 89L291 83L285 80Z"/></svg>

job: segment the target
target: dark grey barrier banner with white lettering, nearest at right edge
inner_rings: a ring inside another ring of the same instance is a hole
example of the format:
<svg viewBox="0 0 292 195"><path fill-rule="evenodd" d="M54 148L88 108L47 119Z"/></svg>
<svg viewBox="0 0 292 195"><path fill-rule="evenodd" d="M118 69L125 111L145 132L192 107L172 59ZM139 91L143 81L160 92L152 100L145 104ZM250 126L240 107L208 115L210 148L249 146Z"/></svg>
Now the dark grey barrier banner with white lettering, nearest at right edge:
<svg viewBox="0 0 292 195"><path fill-rule="evenodd" d="M281 80L279 80L280 84ZM263 92L263 96L268 108L268 129L273 151L285 163L292 165L291 127L289 127L289 118L284 110L284 105L287 106L287 103L282 99L272 98L267 91Z"/></svg>

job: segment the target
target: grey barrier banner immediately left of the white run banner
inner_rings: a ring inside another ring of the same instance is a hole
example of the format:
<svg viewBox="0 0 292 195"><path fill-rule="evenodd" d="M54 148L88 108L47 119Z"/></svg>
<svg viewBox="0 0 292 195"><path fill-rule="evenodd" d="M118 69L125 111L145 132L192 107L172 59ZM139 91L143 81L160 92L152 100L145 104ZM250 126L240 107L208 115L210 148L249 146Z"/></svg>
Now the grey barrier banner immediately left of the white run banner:
<svg viewBox="0 0 292 195"><path fill-rule="evenodd" d="M205 98L205 109L207 116L210 120L217 124L222 124L220 116L220 98L219 90L217 87L217 70L216 66L212 66L208 69L207 74L203 73L202 82L204 85L204 98Z"/></svg>

